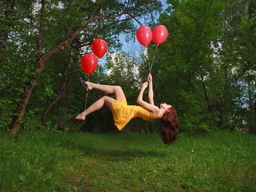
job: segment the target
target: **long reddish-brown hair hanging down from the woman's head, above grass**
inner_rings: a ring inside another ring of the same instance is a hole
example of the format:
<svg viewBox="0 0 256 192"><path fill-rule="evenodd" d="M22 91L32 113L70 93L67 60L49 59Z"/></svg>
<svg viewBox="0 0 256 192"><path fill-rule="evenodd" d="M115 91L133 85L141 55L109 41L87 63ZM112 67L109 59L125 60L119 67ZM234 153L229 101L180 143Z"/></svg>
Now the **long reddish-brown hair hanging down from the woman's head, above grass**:
<svg viewBox="0 0 256 192"><path fill-rule="evenodd" d="M179 122L176 110L170 107L162 116L160 136L163 143L170 145L176 141L176 135L179 132Z"/></svg>

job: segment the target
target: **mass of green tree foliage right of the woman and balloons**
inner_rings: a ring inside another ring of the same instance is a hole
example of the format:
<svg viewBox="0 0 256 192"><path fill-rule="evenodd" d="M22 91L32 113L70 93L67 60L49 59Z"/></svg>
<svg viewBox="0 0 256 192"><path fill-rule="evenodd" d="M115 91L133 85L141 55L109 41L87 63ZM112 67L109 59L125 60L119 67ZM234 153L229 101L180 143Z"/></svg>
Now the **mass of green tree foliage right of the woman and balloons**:
<svg viewBox="0 0 256 192"><path fill-rule="evenodd" d="M152 71L159 76L155 85L159 102L178 108L182 130L238 129L234 116L238 115L238 122L247 119L239 115L243 110L239 106L248 102L241 84L255 77L255 48L250 43L255 44L256 37L249 39L255 36L255 22L247 15L252 5L206 0L168 3L159 17L159 24L168 28L168 39L159 46ZM148 53L152 52L149 47Z"/></svg>

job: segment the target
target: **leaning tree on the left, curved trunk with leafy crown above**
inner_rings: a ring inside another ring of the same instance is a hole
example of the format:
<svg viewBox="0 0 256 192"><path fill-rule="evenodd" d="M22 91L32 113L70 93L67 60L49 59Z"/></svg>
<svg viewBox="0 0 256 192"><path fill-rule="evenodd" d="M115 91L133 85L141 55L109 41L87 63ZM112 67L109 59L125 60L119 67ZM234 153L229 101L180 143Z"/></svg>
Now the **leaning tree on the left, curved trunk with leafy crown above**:
<svg viewBox="0 0 256 192"><path fill-rule="evenodd" d="M33 1L30 2L33 3ZM113 23L118 20L136 18L137 16L141 16L145 9L151 11L156 5L159 5L158 1L128 1L125 4L119 1L79 1L74 4L72 2L54 1L52 4L52 2L42 0L40 13L37 15L39 20L36 22L39 28L37 29L36 50L33 52L35 53L35 57L31 59L32 63L33 61L35 62L32 67L34 71L26 79L26 85L23 90L21 90L22 95L17 104L15 115L13 115L12 118L10 133L18 133L19 125L25 115L30 95L45 68L46 61L50 57L67 47L83 29L87 29L87 32L90 33L90 28L94 25L93 23L97 23L98 20L109 20L110 23ZM69 12L65 14L63 10ZM60 17L54 18L50 13L62 15L64 20ZM35 16L35 13L33 14L32 17ZM126 15L127 18L122 19L122 15ZM30 18L26 18L23 21L28 22ZM30 20L32 21L33 19ZM78 23L80 23L80 25L78 25ZM30 24L33 26L32 23ZM54 26L55 31L53 31L54 24L59 24L57 27ZM69 28L67 28L67 26L69 26ZM36 29L35 26L33 26L33 28ZM66 34L61 31L63 28L66 30ZM62 32L61 35L53 35L58 32L58 30ZM54 39L55 36L56 38Z"/></svg>

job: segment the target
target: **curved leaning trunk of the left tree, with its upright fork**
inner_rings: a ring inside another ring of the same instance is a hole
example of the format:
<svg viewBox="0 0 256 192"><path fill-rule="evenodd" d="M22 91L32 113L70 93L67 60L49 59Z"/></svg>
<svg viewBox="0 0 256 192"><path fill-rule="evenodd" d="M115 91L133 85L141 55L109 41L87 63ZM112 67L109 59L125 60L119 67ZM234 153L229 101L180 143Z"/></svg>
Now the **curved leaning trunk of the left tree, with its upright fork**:
<svg viewBox="0 0 256 192"><path fill-rule="evenodd" d="M44 8L45 6L43 6L43 2L45 2L45 0L42 0L42 13L45 12ZM98 6L97 6L98 8ZM97 9L95 8L95 10ZM94 12L95 12L94 10ZM93 12L93 15L94 15ZM37 80L39 79L40 75L43 72L43 69L45 68L45 63L47 61L47 59L49 59L51 56L53 56L56 53L59 53L60 51L62 51L80 32L81 30L83 30L89 23L94 22L95 20L98 19L114 19L114 18L118 18L121 15L124 15L128 12L128 9L125 9L125 11L119 13L118 15L115 16L95 16L94 18L92 18L93 15L91 15L90 19L87 20L87 22L83 23L80 28L78 28L76 30L76 32L74 33L67 33L66 37L64 37L64 40L62 43L60 43L58 46L54 47L52 50L50 50L49 52L47 52L46 54L42 54L40 53L39 57L36 60L36 70L35 70L35 75L30 79L28 85L26 86L23 95L21 97L21 100L18 103L18 106L16 108L16 115L13 116L12 119L12 125L11 128L9 130L9 133L11 135L15 135L19 132L19 126L21 124L21 121L23 119L23 116L25 115L25 110L26 110L26 106L28 105L28 101L30 98L30 95L32 94L33 88L37 82ZM43 29L41 28L41 25L43 26L43 14L41 16L41 23L40 23L40 30ZM41 31L39 31L39 39L37 41L37 49L40 46L41 43L41 37L42 37L42 33Z"/></svg>

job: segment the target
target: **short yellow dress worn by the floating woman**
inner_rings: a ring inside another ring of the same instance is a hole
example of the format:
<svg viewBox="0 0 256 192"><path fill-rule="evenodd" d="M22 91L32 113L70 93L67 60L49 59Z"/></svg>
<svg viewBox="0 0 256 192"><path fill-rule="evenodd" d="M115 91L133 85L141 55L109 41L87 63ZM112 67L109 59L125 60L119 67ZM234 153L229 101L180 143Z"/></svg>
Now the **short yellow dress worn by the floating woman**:
<svg viewBox="0 0 256 192"><path fill-rule="evenodd" d="M126 98L124 97L121 101L116 100L112 102L112 114L114 117L115 126L119 129L119 131L121 131L121 129L124 128L124 126L128 124L132 118L139 117L147 121L148 119L158 117L160 112L156 116L151 116L149 111L143 107L127 105Z"/></svg>

